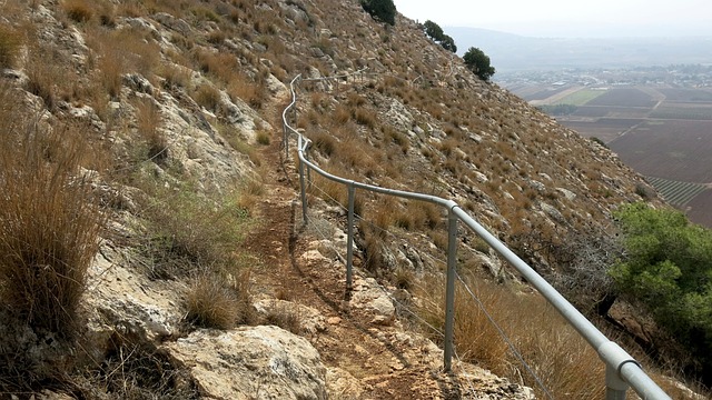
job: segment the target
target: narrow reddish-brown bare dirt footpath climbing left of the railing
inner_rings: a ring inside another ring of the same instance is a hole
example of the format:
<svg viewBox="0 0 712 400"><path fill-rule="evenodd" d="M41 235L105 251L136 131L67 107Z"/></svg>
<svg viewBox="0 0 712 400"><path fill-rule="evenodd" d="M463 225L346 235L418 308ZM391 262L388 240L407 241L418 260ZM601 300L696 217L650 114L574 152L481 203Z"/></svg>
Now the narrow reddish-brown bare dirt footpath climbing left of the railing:
<svg viewBox="0 0 712 400"><path fill-rule="evenodd" d="M281 103L286 103L285 97L271 104L275 127L281 126L278 117ZM281 130L277 132L281 134ZM340 272L329 270L333 267L328 264L300 264L299 256L314 239L307 237L301 222L296 222L300 206L294 160L285 162L281 138L275 137L261 156L266 196L256 211L259 227L244 244L260 258L261 267L253 271L255 290L273 297L287 293L289 300L318 310L329 321L324 330L306 338L328 369L347 371L362 390L359 394L345 392L334 398L462 398L456 379L429 362L422 362L421 349L407 340L404 343L402 337L396 339L396 328L375 327L370 317L348 311Z"/></svg>

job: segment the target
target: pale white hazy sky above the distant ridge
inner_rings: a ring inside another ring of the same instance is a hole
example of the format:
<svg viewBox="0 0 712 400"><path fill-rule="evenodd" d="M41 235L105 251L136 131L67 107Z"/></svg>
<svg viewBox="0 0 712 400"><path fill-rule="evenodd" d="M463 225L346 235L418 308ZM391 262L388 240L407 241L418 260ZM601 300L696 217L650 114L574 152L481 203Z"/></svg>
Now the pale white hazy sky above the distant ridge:
<svg viewBox="0 0 712 400"><path fill-rule="evenodd" d="M533 37L712 37L711 0L394 0L398 12L441 27ZM447 30L445 30L447 33Z"/></svg>

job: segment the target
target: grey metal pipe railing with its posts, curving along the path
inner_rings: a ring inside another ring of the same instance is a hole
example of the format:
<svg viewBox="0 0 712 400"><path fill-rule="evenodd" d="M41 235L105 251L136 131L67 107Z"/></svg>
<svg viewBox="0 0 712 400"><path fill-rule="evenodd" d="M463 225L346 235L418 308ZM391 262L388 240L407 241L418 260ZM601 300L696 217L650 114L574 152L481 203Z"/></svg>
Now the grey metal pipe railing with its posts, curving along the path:
<svg viewBox="0 0 712 400"><path fill-rule="evenodd" d="M360 73L364 70L355 73ZM339 79L348 79L353 74L339 76ZM445 291L445 370L452 368L453 356L453 327L454 327L454 298L455 298L455 264L457 250L457 223L464 223L469 230L482 238L490 247L492 247L500 256L510 262L542 296L561 313L568 323L593 347L599 357L606 364L605 384L607 400L623 400L629 386L643 399L664 400L671 399L641 368L641 364L633 359L617 343L609 340L591 321L589 321L575 307L573 307L556 289L554 289L542 276L536 273L526 262L510 250L502 241L495 238L482 224L475 221L467 212L465 212L455 201L439 198L436 196L408 192L382 188L373 184L366 184L354 180L334 176L319 168L308 159L308 149L310 140L300 134L288 122L288 112L294 111L296 114L297 93L295 83L301 79L301 76L295 77L289 83L291 91L291 102L281 113L284 124L284 143L287 149L288 141L291 136L297 140L297 153L299 158L299 182L301 186L301 212L305 223L307 222L307 198L305 168L314 170L324 178L344 184L348 190L348 227L347 227L347 259L346 259L346 288L352 289L352 267L353 267L353 238L354 238L354 199L356 189L367 190L386 196L395 196L398 198L426 201L438 204L447 209L447 287ZM319 78L334 79L334 78Z"/></svg>

